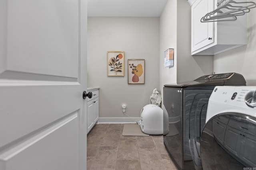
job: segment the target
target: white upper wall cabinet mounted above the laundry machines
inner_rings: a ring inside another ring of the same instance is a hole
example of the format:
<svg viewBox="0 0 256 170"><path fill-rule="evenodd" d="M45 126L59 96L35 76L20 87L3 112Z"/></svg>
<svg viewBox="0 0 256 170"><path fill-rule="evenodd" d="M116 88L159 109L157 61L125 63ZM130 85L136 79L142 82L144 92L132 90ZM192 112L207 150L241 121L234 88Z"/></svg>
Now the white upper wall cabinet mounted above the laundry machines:
<svg viewBox="0 0 256 170"><path fill-rule="evenodd" d="M247 44L247 15L236 21L201 22L220 0L196 0L191 6L191 55L215 55Z"/></svg>

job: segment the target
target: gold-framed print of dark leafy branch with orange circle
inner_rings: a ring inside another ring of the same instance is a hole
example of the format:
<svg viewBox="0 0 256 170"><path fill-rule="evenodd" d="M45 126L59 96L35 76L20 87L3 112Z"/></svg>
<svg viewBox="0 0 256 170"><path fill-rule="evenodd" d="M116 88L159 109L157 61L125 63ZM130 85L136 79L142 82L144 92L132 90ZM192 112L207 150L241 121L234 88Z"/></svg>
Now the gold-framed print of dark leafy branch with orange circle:
<svg viewBox="0 0 256 170"><path fill-rule="evenodd" d="M107 76L124 76L124 51L107 52Z"/></svg>

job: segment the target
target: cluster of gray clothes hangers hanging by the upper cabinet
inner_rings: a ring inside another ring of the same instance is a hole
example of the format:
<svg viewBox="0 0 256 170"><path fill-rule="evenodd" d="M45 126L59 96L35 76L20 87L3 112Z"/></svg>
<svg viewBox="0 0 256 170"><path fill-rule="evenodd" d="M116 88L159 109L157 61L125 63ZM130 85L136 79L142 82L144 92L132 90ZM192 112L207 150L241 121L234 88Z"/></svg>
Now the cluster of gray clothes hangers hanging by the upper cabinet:
<svg viewBox="0 0 256 170"><path fill-rule="evenodd" d="M225 3L220 6L225 1ZM227 1L227 2L226 2ZM201 18L201 22L234 21L237 16L242 16L250 9L256 7L255 2L236 2L234 0L221 0L217 3L216 10L207 13ZM218 20L217 20L218 19Z"/></svg>

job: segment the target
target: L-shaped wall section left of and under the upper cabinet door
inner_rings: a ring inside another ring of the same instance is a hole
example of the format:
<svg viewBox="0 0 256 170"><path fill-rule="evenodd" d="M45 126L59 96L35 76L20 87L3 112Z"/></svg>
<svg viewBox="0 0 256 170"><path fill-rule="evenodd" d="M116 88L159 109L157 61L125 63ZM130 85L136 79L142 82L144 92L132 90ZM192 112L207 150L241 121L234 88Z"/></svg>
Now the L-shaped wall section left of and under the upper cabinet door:
<svg viewBox="0 0 256 170"><path fill-rule="evenodd" d="M191 55L191 6L187 0L177 2L177 82L186 82L212 74L213 57Z"/></svg>

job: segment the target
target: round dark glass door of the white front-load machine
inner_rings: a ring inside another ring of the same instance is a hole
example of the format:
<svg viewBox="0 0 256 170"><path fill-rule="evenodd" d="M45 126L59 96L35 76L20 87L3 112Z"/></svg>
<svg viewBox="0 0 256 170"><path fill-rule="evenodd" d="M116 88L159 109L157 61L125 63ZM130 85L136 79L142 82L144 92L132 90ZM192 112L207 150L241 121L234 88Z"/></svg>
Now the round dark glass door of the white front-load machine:
<svg viewBox="0 0 256 170"><path fill-rule="evenodd" d="M200 139L204 170L256 167L256 118L241 113L222 113L204 126Z"/></svg>

